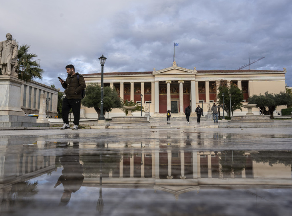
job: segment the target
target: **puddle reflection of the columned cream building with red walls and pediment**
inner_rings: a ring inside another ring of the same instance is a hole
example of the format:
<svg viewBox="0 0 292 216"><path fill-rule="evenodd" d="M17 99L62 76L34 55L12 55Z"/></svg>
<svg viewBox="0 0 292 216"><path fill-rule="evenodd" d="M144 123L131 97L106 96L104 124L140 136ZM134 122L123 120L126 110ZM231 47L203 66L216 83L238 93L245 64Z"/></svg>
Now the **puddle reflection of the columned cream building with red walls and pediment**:
<svg viewBox="0 0 292 216"><path fill-rule="evenodd" d="M103 170L103 187L153 187L175 196L200 188L227 186L234 189L255 186L291 188L290 166L274 164L271 167L253 161L251 154L258 153L256 151L197 152L173 148L172 145L159 147L153 150L142 148L142 157L141 151L133 150L107 158L112 164L106 165L111 167L106 173ZM88 170L87 163L83 163L84 170ZM93 177L95 175L97 177ZM98 173L95 175L85 171L83 185L98 185Z"/></svg>

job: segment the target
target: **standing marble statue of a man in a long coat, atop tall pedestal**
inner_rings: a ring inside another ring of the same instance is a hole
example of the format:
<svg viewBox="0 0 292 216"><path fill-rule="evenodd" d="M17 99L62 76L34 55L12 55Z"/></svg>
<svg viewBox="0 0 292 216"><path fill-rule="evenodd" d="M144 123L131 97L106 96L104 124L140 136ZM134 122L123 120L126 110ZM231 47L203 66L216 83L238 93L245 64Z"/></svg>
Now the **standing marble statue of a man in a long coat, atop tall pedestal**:
<svg viewBox="0 0 292 216"><path fill-rule="evenodd" d="M18 45L10 33L6 34L6 38L6 41L0 42L0 68L3 75L16 76Z"/></svg>

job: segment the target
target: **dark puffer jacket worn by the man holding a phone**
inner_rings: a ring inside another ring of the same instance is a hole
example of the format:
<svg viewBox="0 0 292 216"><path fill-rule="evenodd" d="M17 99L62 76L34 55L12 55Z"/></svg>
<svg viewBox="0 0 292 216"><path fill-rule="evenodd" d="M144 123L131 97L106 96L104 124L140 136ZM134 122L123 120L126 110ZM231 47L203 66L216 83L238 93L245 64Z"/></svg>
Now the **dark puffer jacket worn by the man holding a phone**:
<svg viewBox="0 0 292 216"><path fill-rule="evenodd" d="M79 81L77 79L77 74L70 76L68 74L66 81L62 84L63 88L66 88L64 93L68 99L82 99L82 90L86 88L84 78L79 74Z"/></svg>

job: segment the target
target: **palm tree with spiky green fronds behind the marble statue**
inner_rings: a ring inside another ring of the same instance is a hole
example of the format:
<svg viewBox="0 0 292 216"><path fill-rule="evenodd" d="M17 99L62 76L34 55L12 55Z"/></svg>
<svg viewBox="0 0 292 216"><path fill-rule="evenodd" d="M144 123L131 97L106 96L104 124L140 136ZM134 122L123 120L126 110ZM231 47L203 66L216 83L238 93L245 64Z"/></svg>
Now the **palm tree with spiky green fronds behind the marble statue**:
<svg viewBox="0 0 292 216"><path fill-rule="evenodd" d="M18 65L16 67L16 71L18 73L18 79L24 81L30 81L35 78L42 79L42 73L44 72L41 69L37 60L32 60L36 58L37 55L33 53L29 53L29 45L21 45L18 49Z"/></svg>

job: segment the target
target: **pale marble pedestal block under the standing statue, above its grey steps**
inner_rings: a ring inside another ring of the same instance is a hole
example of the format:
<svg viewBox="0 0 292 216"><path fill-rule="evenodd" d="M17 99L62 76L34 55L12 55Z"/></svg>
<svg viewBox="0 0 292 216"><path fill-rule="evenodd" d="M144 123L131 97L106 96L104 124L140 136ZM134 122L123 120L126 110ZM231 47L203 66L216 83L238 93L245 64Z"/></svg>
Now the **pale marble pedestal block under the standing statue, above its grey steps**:
<svg viewBox="0 0 292 216"><path fill-rule="evenodd" d="M0 76L0 115L25 116L21 107L21 85L15 76Z"/></svg>

